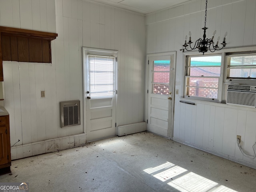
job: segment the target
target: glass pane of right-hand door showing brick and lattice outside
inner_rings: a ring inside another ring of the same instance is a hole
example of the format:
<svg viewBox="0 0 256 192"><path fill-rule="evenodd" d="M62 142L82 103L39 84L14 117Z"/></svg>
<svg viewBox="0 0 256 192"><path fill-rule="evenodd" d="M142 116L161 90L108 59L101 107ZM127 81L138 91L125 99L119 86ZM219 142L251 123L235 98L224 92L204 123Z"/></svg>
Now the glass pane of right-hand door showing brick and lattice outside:
<svg viewBox="0 0 256 192"><path fill-rule="evenodd" d="M152 70L152 93L160 95L169 94L170 60L154 61Z"/></svg>

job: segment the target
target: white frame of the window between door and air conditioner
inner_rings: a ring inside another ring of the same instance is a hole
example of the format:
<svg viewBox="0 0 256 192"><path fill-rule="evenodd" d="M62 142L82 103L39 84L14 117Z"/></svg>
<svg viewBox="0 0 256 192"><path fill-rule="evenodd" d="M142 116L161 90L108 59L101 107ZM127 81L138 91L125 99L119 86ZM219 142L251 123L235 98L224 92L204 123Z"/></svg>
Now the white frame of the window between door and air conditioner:
<svg viewBox="0 0 256 192"><path fill-rule="evenodd" d="M209 54L200 54L198 52L192 52L191 54L189 52L184 53L185 54L185 73L184 73L184 98L189 99L196 99L196 100L202 100L202 101L208 101L208 102L221 102L222 101L222 86L223 86L223 74L224 74L224 55L222 52L217 53L209 53ZM203 56L221 56L221 64L220 64L220 76L210 76L210 78L218 78L218 96L217 98L204 98L199 96L188 96L186 95L186 89L187 89L187 78L189 75L187 75L188 72L188 62L189 58L193 57L203 57Z"/></svg>

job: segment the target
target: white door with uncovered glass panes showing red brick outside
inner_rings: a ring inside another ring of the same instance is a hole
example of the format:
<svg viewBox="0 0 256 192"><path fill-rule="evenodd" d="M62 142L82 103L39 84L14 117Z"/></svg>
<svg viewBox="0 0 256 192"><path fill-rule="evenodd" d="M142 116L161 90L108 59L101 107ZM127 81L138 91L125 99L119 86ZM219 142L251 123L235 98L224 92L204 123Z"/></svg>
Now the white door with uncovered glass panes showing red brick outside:
<svg viewBox="0 0 256 192"><path fill-rule="evenodd" d="M148 124L150 132L172 137L175 54L148 57Z"/></svg>

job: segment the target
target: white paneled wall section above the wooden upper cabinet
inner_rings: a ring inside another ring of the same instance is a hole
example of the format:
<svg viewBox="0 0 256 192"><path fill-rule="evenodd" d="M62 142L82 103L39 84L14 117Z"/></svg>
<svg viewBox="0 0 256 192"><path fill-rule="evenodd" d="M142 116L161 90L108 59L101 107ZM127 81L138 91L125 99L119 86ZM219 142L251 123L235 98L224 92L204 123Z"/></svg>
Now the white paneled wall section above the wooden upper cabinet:
<svg viewBox="0 0 256 192"><path fill-rule="evenodd" d="M56 32L53 0L1 0L0 26Z"/></svg>

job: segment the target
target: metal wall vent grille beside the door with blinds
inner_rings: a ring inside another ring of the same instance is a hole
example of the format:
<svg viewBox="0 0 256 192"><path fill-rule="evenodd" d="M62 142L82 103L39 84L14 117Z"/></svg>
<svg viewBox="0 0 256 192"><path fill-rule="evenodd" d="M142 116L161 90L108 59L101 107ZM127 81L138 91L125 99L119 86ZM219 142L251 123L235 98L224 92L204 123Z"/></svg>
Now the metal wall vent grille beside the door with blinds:
<svg viewBox="0 0 256 192"><path fill-rule="evenodd" d="M61 127L80 125L80 101L60 102Z"/></svg>

